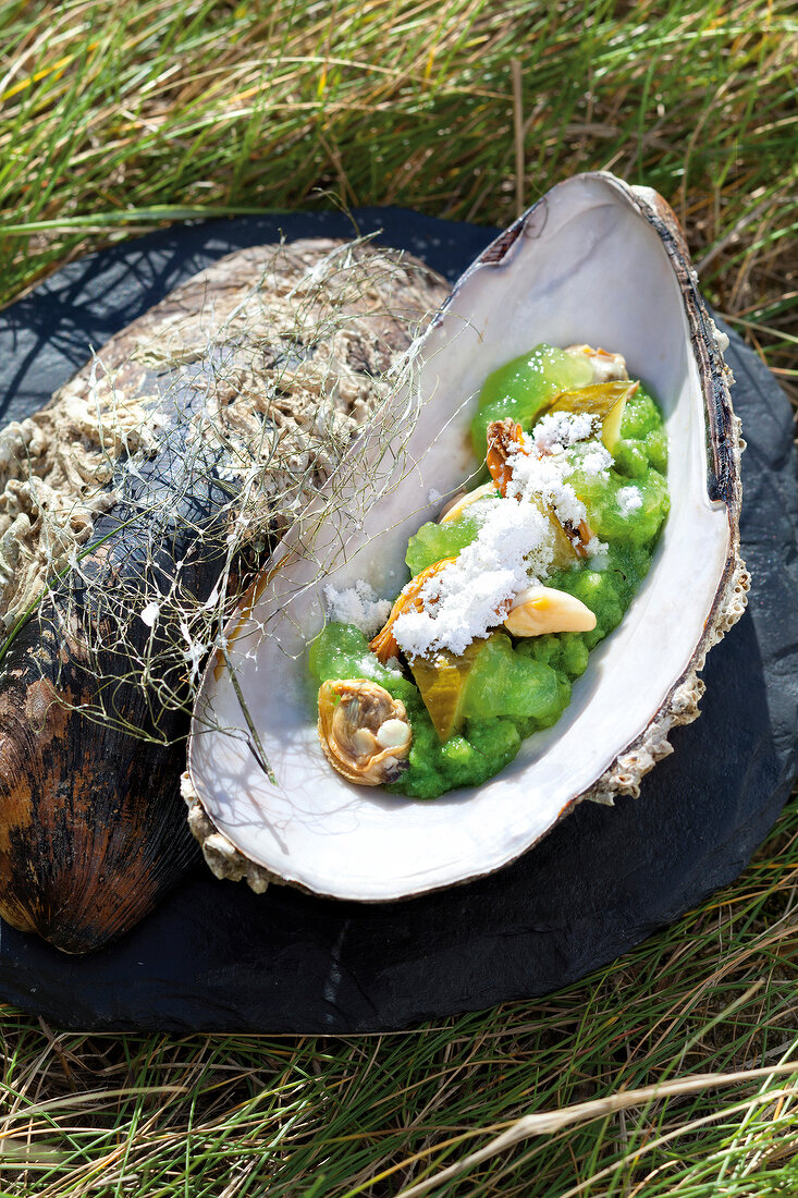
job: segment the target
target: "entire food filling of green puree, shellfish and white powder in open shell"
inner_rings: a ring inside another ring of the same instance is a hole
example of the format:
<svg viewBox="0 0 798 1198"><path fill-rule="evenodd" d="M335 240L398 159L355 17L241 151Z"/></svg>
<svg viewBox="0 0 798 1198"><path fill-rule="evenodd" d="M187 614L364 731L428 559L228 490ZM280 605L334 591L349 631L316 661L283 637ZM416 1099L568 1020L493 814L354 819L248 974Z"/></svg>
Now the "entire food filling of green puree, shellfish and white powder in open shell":
<svg viewBox="0 0 798 1198"><path fill-rule="evenodd" d="M651 564L667 438L621 355L520 355L485 382L472 442L490 479L410 538L395 603L362 580L325 592L319 737L356 785L436 798L486 781L557 722Z"/></svg>

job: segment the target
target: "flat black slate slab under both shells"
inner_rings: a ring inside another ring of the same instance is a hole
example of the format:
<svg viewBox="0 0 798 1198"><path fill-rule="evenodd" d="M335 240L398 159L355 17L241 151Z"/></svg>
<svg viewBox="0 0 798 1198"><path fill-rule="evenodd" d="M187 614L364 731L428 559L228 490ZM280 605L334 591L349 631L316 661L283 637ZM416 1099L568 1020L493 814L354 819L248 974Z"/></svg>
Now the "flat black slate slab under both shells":
<svg viewBox="0 0 798 1198"><path fill-rule="evenodd" d="M452 280L492 232L397 210L359 229ZM349 236L340 213L183 225L59 271L0 314L0 418L44 403L89 356L191 274L244 246ZM253 895L204 869L125 939L66 957L0 927L0 996L62 1027L375 1031L544 994L625 952L731 882L798 770L798 486L788 404L732 337L743 418L746 615L712 651L701 719L639 800L581 804L514 865L381 906L272 887Z"/></svg>

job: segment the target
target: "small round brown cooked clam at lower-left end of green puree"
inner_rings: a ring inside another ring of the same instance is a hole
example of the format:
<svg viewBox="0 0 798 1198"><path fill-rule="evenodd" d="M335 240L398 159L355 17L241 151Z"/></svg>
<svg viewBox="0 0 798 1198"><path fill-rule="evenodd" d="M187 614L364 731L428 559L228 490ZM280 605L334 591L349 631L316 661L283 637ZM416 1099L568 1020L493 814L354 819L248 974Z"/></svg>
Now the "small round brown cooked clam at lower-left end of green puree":
<svg viewBox="0 0 798 1198"><path fill-rule="evenodd" d="M319 740L347 782L381 786L407 768L412 731L405 704L368 678L338 678L319 688Z"/></svg>

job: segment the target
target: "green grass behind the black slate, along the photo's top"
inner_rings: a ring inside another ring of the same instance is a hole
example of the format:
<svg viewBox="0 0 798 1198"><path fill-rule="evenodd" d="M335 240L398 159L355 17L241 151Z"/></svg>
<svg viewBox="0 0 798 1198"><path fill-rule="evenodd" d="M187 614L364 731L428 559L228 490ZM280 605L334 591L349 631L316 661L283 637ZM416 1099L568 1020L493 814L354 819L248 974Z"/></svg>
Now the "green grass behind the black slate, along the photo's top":
<svg viewBox="0 0 798 1198"><path fill-rule="evenodd" d="M792 379L790 13L786 0L6 2L0 302L164 219L334 199L506 224L558 179L607 168L673 204L711 298Z"/></svg>

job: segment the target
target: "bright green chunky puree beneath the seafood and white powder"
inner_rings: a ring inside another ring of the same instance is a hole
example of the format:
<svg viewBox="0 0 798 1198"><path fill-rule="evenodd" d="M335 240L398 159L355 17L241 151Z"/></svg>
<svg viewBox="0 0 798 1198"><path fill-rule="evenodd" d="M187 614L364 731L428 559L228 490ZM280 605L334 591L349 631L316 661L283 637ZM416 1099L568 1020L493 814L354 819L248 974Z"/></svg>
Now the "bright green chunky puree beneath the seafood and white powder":
<svg viewBox="0 0 798 1198"><path fill-rule="evenodd" d="M490 420L504 416L512 416L528 430L540 406L557 391L584 385L586 380L574 377L564 358L558 350L538 346L491 375L473 422L474 441L480 437L484 446ZM532 371L530 362L536 368ZM524 370L526 377L519 385L518 376ZM590 446L586 442L584 452L590 452ZM590 651L621 622L648 570L669 509L664 477L667 437L657 404L642 387L628 399L610 470L601 473L580 470L580 452L581 446L574 447L575 470L569 482L587 508L592 531L606 543L607 552L600 569L593 568L588 559L551 574L545 585L581 599L596 613L597 625L590 633L557 633L515 641L504 631L491 633L468 674L464 726L443 744L412 679L399 668L383 666L369 651L359 629L328 624L313 642L309 666L319 684L334 678L370 678L405 704L413 733L410 767L388 791L434 799L458 786L477 786L498 773L516 755L525 737L556 724L570 701L573 680L587 666ZM455 520L423 525L407 546L411 576L471 544L479 531L477 509L498 502L508 501L489 496Z"/></svg>

